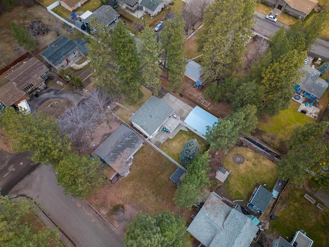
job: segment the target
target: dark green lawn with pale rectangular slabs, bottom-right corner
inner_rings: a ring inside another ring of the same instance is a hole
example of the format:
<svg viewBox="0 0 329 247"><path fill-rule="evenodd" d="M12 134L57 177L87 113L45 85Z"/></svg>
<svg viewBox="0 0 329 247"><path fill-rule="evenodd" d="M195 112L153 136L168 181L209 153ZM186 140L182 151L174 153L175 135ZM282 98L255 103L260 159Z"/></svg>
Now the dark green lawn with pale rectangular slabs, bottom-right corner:
<svg viewBox="0 0 329 247"><path fill-rule="evenodd" d="M275 209L276 219L271 220L268 232L280 234L290 241L298 230L302 230L314 241L313 246L329 246L329 209L321 211L316 207L320 201L308 193L316 200L315 204L310 203L303 198L305 193L308 193L305 189L298 189L291 184L287 186Z"/></svg>

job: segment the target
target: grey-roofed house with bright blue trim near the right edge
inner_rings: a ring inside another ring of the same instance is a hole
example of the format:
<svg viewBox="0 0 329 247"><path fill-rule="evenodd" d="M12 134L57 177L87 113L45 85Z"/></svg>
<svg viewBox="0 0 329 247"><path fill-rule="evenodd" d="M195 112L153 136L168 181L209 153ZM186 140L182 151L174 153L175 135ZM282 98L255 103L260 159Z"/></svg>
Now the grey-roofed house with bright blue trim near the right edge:
<svg viewBox="0 0 329 247"><path fill-rule="evenodd" d="M295 86L295 91L312 101L321 98L329 83L319 77L321 75L319 70L305 65L300 72L303 77L301 83Z"/></svg>

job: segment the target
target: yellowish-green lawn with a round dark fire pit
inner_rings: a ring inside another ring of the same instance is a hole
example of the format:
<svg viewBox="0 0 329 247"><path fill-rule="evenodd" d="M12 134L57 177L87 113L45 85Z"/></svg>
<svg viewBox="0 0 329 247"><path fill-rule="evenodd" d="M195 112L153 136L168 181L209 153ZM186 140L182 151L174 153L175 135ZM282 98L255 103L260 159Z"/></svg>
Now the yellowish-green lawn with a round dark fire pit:
<svg viewBox="0 0 329 247"><path fill-rule="evenodd" d="M235 153L244 156L241 165L233 162ZM234 199L247 200L251 197L255 187L265 183L271 189L277 181L277 165L249 148L234 147L224 160L224 168L231 170L224 188Z"/></svg>

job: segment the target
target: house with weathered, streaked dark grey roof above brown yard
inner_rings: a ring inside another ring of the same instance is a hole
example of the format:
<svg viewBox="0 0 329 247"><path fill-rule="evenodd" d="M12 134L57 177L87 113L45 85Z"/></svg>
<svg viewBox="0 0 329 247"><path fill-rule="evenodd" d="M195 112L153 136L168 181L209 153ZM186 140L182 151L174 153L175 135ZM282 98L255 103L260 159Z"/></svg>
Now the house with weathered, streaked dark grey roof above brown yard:
<svg viewBox="0 0 329 247"><path fill-rule="evenodd" d="M93 152L93 156L98 155L103 162L108 164L113 172L109 177L112 180L117 174L125 177L130 172L133 155L143 145L140 138L132 129L120 125L99 147Z"/></svg>

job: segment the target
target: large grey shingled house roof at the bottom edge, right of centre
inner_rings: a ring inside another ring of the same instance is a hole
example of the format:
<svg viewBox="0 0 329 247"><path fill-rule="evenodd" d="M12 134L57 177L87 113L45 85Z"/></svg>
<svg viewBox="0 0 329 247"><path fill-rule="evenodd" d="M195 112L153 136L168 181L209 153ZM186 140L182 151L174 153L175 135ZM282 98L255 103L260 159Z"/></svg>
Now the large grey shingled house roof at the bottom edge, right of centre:
<svg viewBox="0 0 329 247"><path fill-rule="evenodd" d="M249 247L259 227L211 192L187 231L205 247Z"/></svg>

